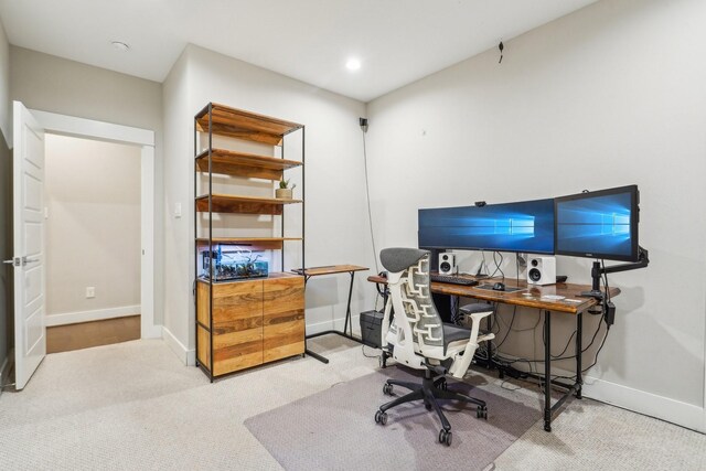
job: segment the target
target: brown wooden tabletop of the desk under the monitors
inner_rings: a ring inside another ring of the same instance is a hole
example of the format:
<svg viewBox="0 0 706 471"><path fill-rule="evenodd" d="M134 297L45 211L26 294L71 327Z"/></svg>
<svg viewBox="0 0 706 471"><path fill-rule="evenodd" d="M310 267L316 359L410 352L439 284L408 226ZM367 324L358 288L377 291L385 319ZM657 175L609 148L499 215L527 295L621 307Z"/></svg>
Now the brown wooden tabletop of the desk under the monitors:
<svg viewBox="0 0 706 471"><path fill-rule="evenodd" d="M468 278L474 279L472 276ZM367 277L371 282L386 283L387 279L377 275ZM493 291L483 289L483 286L492 286L498 281L505 283L507 288L520 288L518 291ZM556 283L546 286L527 286L527 281L512 278L489 278L479 279L478 286L462 286L443 282L431 282L431 291L441 295L460 296L464 298L475 298L491 302L502 302L505 304L524 306L527 308L547 309L550 311L576 314L597 304L592 298L581 298L578 295L589 291L590 286L575 283ZM620 288L611 287L610 296L620 295ZM563 297L563 299L552 299L547 297Z"/></svg>

